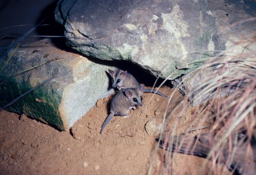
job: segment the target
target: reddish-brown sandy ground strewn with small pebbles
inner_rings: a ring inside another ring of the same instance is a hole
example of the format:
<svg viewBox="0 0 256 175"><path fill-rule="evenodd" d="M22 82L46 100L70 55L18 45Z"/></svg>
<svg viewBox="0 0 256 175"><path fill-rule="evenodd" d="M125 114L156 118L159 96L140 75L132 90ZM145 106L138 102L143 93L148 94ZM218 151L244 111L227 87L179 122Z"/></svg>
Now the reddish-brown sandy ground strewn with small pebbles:
<svg viewBox="0 0 256 175"><path fill-rule="evenodd" d="M166 95L171 95L173 90L168 86L160 89ZM146 174L157 145L157 136L148 135L145 124L151 118L162 119L168 102L168 99L158 95L154 95L149 102L151 96L151 93L143 94L143 107L131 110L130 118L114 116L102 135L99 131L108 116L112 96L99 99L70 132L61 132L26 115L2 110L0 174ZM175 92L175 98L182 96ZM171 105L168 113L173 107ZM178 132L183 132L191 121L193 109L187 107L185 111L184 116L179 118ZM151 174L156 174L163 167L162 157L163 150L157 148ZM172 171L177 175L200 174L198 171L203 162L203 158L177 154Z"/></svg>

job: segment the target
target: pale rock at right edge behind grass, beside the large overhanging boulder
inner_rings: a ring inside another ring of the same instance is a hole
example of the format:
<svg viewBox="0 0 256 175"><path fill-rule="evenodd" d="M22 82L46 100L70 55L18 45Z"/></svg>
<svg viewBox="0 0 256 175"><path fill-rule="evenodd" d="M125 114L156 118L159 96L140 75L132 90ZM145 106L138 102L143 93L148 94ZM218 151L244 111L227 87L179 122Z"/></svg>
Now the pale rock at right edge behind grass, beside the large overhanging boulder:
<svg viewBox="0 0 256 175"><path fill-rule="evenodd" d="M193 105L204 103L213 97L214 90L204 94L201 92L204 88L202 84L206 86L215 78L217 85L224 77L235 77L242 81L238 86L244 85L244 83L248 83L248 75L252 69L242 64L239 66L237 63L244 61L249 62L245 64L249 64L252 68L255 66L255 3L227 1L219 8L212 8L211 13L216 19L218 39L216 40L216 50L218 50L216 53L220 53L216 55L215 60L223 62L225 65L210 63L214 62L214 59L210 59L198 70L188 70L185 75L171 81L182 94L190 93L189 101ZM178 86L180 83L182 83L181 87ZM232 82L230 84L233 87L236 86ZM222 85L221 92L215 94L214 97L228 96L232 89L229 87L230 84Z"/></svg>

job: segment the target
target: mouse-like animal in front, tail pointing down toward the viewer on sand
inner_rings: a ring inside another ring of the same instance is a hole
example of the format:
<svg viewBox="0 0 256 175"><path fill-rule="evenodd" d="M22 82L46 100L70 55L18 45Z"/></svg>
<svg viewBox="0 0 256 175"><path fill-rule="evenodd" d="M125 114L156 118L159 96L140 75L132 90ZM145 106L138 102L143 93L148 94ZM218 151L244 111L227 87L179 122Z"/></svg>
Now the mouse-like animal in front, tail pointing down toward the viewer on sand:
<svg viewBox="0 0 256 175"><path fill-rule="evenodd" d="M142 106L142 94L145 85L141 85L138 88L126 88L119 90L111 101L110 114L108 118L102 124L100 134L106 127L106 125L111 121L113 116L122 116L124 118L130 109L136 109L136 105Z"/></svg>

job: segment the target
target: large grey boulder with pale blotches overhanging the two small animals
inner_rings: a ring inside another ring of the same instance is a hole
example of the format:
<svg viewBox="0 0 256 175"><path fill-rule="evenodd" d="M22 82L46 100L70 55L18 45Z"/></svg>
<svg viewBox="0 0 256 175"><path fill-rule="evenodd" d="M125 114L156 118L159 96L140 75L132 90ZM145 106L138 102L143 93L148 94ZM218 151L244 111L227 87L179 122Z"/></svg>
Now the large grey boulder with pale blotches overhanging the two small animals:
<svg viewBox="0 0 256 175"><path fill-rule="evenodd" d="M55 20L86 56L128 60L168 79L200 66L218 40L204 1L59 0Z"/></svg>

